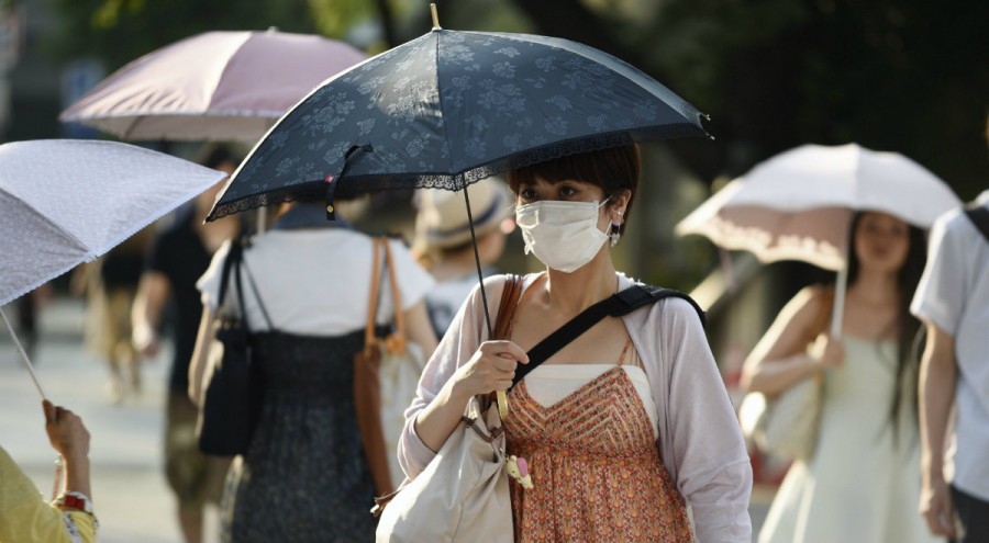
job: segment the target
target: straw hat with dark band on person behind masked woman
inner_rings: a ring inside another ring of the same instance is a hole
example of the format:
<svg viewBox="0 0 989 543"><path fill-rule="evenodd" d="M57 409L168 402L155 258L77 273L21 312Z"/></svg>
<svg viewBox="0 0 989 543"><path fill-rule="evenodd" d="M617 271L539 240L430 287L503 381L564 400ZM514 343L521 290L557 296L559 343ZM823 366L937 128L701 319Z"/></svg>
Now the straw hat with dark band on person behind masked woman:
<svg viewBox="0 0 989 543"><path fill-rule="evenodd" d="M482 179L467 186L474 231L482 236L512 215L512 194L499 177ZM419 191L415 216L415 246L446 249L470 241L467 204L460 191L426 189Z"/></svg>

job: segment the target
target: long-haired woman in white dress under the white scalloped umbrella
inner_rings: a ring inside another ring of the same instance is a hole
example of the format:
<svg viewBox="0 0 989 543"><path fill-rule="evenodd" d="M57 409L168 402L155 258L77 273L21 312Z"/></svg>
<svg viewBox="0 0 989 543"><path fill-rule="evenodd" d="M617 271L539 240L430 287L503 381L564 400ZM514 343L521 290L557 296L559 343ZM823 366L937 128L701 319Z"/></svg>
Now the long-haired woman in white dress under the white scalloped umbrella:
<svg viewBox="0 0 989 543"><path fill-rule="evenodd" d="M919 514L919 323L908 305L926 258L923 233L884 213L852 222L842 337L825 328L832 287L810 286L780 312L743 370L769 397L823 377L813 455L793 462L759 534L773 542L934 541Z"/></svg>

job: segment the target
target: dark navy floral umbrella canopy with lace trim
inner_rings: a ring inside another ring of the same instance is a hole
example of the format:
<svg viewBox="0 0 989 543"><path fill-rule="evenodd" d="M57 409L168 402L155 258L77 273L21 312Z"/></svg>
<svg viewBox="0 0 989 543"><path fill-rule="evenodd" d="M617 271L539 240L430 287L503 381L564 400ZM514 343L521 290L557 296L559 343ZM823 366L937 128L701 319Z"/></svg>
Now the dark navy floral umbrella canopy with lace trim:
<svg viewBox="0 0 989 543"><path fill-rule="evenodd" d="M341 196L458 190L574 152L703 136L701 116L653 78L586 45L434 29L299 102L254 148L210 218L319 197L327 188Z"/></svg>

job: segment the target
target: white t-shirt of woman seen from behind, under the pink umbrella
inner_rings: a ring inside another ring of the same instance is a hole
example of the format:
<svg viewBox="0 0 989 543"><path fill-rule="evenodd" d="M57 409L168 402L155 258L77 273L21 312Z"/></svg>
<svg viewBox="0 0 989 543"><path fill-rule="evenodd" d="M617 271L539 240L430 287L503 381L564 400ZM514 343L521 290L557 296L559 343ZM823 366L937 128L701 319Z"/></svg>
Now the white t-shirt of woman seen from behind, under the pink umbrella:
<svg viewBox="0 0 989 543"><path fill-rule="evenodd" d="M402 308L409 309L423 298L434 281L400 241L390 242ZM351 229L275 229L253 239L244 251L243 265L256 283L275 328L305 336L338 336L367 325L371 249L370 237ZM229 251L229 244L221 247L197 283L203 305L213 310ZM264 315L243 270L242 276L248 327L266 330ZM389 323L395 314L388 283L384 276L378 324ZM240 314L233 283L227 286L226 297L224 306L231 304L229 307Z"/></svg>

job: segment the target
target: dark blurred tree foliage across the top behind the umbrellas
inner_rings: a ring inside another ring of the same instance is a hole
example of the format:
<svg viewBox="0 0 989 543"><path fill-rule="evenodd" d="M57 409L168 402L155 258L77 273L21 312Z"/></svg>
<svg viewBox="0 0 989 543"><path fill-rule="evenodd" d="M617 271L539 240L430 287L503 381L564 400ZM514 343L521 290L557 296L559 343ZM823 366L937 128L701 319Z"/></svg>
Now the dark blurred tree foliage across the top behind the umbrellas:
<svg viewBox="0 0 989 543"><path fill-rule="evenodd" d="M55 48L110 69L208 30L277 26L376 53L431 26L426 0L47 0ZM707 180L804 143L903 152L963 199L989 179L989 2L959 0L440 0L451 29L567 37L643 68L712 117L674 142Z"/></svg>

